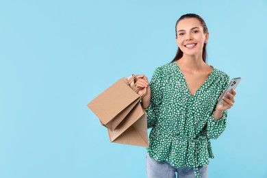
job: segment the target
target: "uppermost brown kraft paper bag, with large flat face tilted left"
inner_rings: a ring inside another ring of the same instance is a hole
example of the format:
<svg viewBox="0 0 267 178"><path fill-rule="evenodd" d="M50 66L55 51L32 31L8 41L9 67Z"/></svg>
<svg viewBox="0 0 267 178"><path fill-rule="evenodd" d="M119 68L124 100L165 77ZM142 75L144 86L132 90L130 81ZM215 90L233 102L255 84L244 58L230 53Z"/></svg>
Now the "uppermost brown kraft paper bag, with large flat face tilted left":
<svg viewBox="0 0 267 178"><path fill-rule="evenodd" d="M88 107L97 115L102 125L114 130L140 102L140 95L133 91L134 77L123 77L107 88L98 97L88 103Z"/></svg>

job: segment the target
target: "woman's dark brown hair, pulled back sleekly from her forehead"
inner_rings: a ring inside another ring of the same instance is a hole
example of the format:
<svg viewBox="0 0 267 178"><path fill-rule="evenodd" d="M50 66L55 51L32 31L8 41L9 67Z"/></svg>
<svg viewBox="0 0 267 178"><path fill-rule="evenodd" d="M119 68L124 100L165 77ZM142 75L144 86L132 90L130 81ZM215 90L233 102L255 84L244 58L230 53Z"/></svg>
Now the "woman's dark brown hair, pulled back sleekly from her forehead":
<svg viewBox="0 0 267 178"><path fill-rule="evenodd" d="M196 18L196 19L198 19L199 22L201 23L201 26L203 27L204 34L207 33L207 25L206 25L205 21L203 20L203 18L201 18L201 16L199 16L197 14L184 14L176 22L176 25L175 25L176 38L177 38L177 24L179 23L179 21L183 20L184 18ZM203 58L204 62L206 62L206 58L207 58L206 45L207 45L207 43L204 43L203 51L202 51L202 58ZM178 47L177 53L176 53L175 58L173 59L172 62L175 62L175 61L181 59L181 57L183 57L183 51L181 51L181 49Z"/></svg>

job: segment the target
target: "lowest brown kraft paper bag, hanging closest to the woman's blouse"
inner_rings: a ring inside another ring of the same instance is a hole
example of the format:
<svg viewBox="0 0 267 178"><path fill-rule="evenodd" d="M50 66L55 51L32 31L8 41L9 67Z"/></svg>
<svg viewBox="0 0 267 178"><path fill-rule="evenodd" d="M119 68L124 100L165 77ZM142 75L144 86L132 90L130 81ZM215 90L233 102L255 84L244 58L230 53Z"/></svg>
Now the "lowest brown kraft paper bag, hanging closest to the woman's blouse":
<svg viewBox="0 0 267 178"><path fill-rule="evenodd" d="M140 147L149 147L147 135L147 113L142 109L140 103L114 129L107 129L110 142L120 144L131 144Z"/></svg>

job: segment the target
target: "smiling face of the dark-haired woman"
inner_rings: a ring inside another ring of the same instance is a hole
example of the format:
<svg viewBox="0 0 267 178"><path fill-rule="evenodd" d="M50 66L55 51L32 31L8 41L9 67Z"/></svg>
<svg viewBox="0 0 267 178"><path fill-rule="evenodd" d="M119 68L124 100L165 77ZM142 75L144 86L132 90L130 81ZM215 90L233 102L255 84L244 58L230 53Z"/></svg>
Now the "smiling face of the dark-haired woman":
<svg viewBox="0 0 267 178"><path fill-rule="evenodd" d="M197 18L185 18L177 24L178 47L186 55L201 55L209 33L204 34L203 27Z"/></svg>

